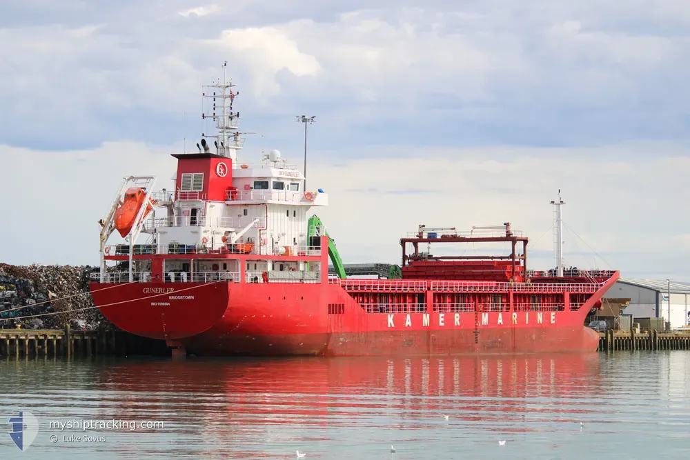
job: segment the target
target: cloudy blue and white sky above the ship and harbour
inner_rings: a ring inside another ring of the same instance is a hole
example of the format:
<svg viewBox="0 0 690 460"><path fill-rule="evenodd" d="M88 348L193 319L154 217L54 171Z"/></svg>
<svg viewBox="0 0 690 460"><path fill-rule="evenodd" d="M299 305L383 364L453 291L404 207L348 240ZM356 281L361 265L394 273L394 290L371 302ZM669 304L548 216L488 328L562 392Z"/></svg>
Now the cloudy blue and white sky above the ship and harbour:
<svg viewBox="0 0 690 460"><path fill-rule="evenodd" d="M228 74L249 135L329 194L345 263L400 263L420 223L510 221L531 266L690 281L690 2L4 0L0 261L95 264L121 178L206 128Z"/></svg>

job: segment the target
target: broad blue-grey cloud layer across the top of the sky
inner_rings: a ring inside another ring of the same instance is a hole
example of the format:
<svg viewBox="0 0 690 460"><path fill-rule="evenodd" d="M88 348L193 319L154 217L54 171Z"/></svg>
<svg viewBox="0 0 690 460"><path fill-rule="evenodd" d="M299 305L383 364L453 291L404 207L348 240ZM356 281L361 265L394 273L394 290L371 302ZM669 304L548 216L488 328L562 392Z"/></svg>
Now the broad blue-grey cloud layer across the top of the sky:
<svg viewBox="0 0 690 460"><path fill-rule="evenodd" d="M41 14L3 6L14 19L0 21L0 100L13 113L0 139L10 145L198 136L189 117L226 60L246 120L277 139L304 110L321 115L317 137L360 146L402 136L594 146L689 132L690 17L678 2L39 3Z"/></svg>

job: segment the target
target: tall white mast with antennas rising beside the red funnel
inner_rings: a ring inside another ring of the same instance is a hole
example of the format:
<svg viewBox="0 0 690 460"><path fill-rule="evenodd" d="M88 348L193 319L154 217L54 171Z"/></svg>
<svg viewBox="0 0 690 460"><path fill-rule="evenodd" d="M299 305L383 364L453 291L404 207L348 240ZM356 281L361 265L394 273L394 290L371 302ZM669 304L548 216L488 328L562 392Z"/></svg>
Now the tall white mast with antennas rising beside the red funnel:
<svg viewBox="0 0 690 460"><path fill-rule="evenodd" d="M236 85L228 81L228 61L225 61L223 63L223 81L218 81L215 85L204 86L204 88L209 89L201 94L203 97L213 99L211 114L202 113L201 119L210 118L215 121L215 128L218 133L205 134L202 132L201 136L215 138L216 153L231 159L233 168L237 168L239 167L237 165L237 150L242 150L245 139L240 134L253 134L253 132L239 131L239 111L233 112L233 102L239 91L233 92L234 86ZM217 101L217 99L220 100Z"/></svg>

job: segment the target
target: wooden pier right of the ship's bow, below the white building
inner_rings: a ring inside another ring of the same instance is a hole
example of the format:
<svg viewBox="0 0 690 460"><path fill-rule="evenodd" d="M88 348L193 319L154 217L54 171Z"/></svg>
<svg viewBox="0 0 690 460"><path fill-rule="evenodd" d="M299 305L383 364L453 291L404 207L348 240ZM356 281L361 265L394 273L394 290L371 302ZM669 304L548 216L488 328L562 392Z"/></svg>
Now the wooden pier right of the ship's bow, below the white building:
<svg viewBox="0 0 690 460"><path fill-rule="evenodd" d="M690 334L657 330L607 330L599 333L598 351L690 350Z"/></svg>

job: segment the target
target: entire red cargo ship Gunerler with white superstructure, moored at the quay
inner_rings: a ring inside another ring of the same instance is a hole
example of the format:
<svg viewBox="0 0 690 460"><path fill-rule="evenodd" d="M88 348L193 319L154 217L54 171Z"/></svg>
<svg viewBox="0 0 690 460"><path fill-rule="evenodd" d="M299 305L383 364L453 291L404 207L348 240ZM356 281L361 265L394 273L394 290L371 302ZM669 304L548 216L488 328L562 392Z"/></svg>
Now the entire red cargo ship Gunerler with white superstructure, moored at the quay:
<svg viewBox="0 0 690 460"><path fill-rule="evenodd" d="M172 190L153 191L152 176L125 178L100 222L101 273L90 287L116 326L198 355L596 350L584 320L618 272L563 270L560 244L555 270L529 271L528 240L509 223L466 234L420 226L400 240L396 279L347 279L333 239L308 217L328 195L307 190L277 150L256 166L237 161L245 133L233 86L224 79L204 92L213 112L203 117L218 130L205 136L213 152L202 139L198 153L173 154ZM562 201L552 203L560 229ZM108 244L115 230L126 244ZM510 253L420 251L453 243L503 243Z"/></svg>

